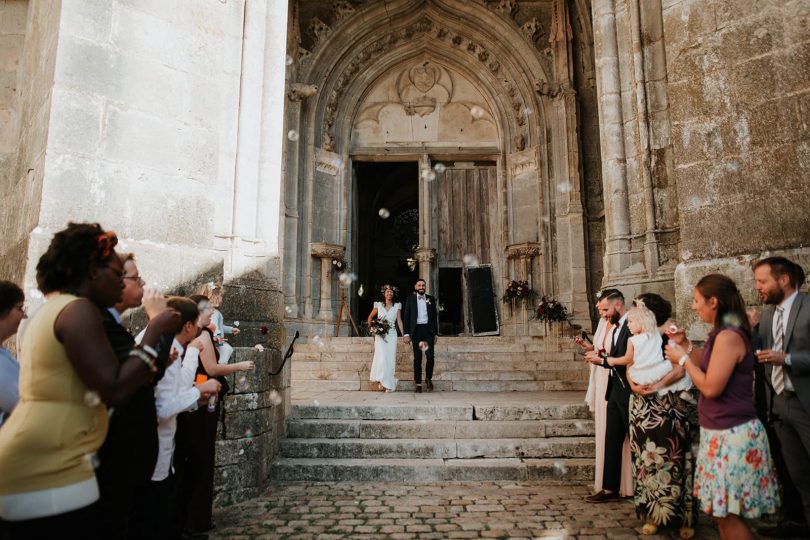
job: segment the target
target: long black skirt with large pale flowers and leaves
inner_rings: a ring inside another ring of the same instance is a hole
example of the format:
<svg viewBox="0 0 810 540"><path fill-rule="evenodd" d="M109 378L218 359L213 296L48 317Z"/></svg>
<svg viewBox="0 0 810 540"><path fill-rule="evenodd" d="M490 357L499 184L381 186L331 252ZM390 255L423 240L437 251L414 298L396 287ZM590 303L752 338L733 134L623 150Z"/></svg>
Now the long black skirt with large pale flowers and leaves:
<svg viewBox="0 0 810 540"><path fill-rule="evenodd" d="M691 434L697 429L696 406L680 394L630 396L633 502L641 519L693 527Z"/></svg>

